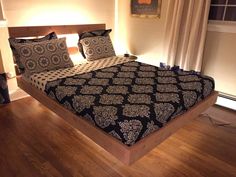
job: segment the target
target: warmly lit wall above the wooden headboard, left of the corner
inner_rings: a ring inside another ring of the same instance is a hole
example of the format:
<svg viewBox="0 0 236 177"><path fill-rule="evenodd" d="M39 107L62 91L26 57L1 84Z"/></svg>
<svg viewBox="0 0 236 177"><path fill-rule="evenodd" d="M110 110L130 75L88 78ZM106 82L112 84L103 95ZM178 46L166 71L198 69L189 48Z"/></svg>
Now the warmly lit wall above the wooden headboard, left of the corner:
<svg viewBox="0 0 236 177"><path fill-rule="evenodd" d="M114 0L3 0L9 26L106 23L114 27Z"/></svg>

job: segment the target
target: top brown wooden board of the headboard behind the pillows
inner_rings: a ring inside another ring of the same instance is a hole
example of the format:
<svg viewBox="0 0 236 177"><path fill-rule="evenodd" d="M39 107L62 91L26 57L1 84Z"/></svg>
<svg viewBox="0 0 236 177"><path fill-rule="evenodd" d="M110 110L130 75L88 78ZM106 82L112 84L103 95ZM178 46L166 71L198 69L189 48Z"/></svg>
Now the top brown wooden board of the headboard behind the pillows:
<svg viewBox="0 0 236 177"><path fill-rule="evenodd" d="M85 25L58 25L58 26L24 26L24 27L9 27L10 37L33 37L44 36L50 32L56 34L75 34L85 31L105 29L105 24L85 24Z"/></svg>

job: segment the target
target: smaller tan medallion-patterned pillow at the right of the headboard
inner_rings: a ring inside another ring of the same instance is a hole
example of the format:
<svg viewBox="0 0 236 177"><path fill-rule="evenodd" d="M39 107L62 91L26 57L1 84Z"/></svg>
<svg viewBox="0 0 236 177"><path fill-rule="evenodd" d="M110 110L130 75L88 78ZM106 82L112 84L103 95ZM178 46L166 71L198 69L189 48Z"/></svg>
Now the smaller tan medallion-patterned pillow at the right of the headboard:
<svg viewBox="0 0 236 177"><path fill-rule="evenodd" d="M86 59L96 60L115 56L110 36L88 37L81 40Z"/></svg>

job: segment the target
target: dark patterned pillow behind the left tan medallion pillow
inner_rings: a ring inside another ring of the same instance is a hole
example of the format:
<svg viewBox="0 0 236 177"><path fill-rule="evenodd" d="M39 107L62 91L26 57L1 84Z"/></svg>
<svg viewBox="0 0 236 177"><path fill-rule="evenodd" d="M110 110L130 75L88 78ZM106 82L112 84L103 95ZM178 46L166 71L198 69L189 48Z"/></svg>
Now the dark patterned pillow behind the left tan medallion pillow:
<svg viewBox="0 0 236 177"><path fill-rule="evenodd" d="M8 41L10 43L10 47L15 59L15 62L20 70L20 73L24 73L24 66L20 63L20 56L17 53L16 49L14 48L15 44L22 44L22 43L32 43L32 42L42 42L51 39L57 39L57 35L55 32L51 32L42 38L34 38L34 39L22 39L22 38L9 38Z"/></svg>

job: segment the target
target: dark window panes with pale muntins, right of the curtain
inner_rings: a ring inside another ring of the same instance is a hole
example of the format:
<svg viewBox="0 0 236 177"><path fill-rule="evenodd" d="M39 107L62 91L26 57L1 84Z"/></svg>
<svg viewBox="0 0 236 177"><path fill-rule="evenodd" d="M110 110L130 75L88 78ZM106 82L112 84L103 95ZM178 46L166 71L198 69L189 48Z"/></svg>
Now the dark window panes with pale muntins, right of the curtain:
<svg viewBox="0 0 236 177"><path fill-rule="evenodd" d="M209 20L236 21L236 0L211 0Z"/></svg>

